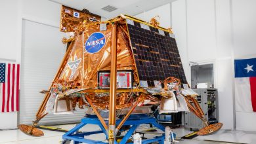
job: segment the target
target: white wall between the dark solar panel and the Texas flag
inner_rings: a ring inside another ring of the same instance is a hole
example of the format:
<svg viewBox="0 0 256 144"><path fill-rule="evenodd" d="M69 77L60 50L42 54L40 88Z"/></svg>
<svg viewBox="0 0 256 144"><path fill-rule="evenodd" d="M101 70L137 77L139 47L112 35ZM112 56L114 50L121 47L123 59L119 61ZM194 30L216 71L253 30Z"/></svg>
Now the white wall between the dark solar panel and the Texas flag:
<svg viewBox="0 0 256 144"><path fill-rule="evenodd" d="M214 63L215 88L219 89L219 121L223 122L224 129L233 129L229 0L179 0L172 6L177 45L186 49L188 62ZM180 9L186 13L181 13ZM181 18L185 24L179 24ZM179 37L179 33L186 36ZM188 65L184 69L190 71ZM190 72L186 76L190 79Z"/></svg>

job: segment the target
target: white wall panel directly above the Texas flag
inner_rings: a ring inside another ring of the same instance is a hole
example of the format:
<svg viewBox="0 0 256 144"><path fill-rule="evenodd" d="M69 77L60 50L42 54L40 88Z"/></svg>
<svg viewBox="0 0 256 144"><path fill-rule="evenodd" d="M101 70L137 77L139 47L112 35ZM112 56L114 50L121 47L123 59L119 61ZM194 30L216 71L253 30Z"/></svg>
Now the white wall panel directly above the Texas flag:
<svg viewBox="0 0 256 144"><path fill-rule="evenodd" d="M232 0L235 58L256 55L255 7L255 0Z"/></svg>

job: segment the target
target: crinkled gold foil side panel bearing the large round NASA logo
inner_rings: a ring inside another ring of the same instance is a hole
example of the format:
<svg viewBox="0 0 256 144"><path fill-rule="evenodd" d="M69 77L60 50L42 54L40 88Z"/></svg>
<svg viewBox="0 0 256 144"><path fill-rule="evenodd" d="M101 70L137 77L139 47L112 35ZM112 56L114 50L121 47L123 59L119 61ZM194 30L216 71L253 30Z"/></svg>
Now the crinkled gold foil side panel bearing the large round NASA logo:
<svg viewBox="0 0 256 144"><path fill-rule="evenodd" d="M100 31L99 25L85 27L83 33L75 38L74 45L70 47L72 52L70 52L64 70L56 82L74 81L79 88L97 88L98 71L110 71L111 28L112 26L108 25L106 31ZM129 37L124 30L127 28L117 27L117 71L134 71L135 61L129 48ZM104 35L104 37L96 39L94 37L96 34ZM95 43L104 43L104 46L98 48L95 47ZM85 46L89 48L85 48ZM135 82L139 82L137 73L134 75Z"/></svg>

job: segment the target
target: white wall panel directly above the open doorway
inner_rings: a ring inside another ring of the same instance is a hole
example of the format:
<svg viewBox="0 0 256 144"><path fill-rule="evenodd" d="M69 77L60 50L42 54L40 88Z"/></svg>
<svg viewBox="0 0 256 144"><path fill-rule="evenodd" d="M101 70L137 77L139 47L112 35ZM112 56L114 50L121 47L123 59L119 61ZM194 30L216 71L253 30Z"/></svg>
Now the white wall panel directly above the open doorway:
<svg viewBox="0 0 256 144"><path fill-rule="evenodd" d="M188 60L216 57L214 0L187 0Z"/></svg>

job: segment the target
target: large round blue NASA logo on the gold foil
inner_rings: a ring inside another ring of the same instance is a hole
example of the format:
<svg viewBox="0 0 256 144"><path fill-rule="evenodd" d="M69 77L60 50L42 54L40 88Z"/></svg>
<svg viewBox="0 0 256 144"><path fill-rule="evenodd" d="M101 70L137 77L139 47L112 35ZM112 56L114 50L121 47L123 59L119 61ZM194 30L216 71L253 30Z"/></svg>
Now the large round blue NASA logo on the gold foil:
<svg viewBox="0 0 256 144"><path fill-rule="evenodd" d="M105 35L99 32L93 33L85 42L85 50L91 54L94 54L101 50L101 48L105 45L105 42Z"/></svg>

